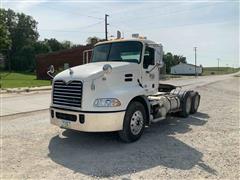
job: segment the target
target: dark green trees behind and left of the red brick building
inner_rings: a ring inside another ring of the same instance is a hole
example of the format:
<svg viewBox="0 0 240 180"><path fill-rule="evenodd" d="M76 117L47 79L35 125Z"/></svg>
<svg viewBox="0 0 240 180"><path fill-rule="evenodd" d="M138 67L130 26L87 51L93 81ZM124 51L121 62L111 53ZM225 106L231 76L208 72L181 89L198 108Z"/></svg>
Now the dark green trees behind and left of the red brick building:
<svg viewBox="0 0 240 180"><path fill-rule="evenodd" d="M37 24L31 16L15 13L11 9L0 9L0 53L8 54L5 68L33 70L37 54L69 49L73 46L70 41L61 43L55 38L38 41Z"/></svg>

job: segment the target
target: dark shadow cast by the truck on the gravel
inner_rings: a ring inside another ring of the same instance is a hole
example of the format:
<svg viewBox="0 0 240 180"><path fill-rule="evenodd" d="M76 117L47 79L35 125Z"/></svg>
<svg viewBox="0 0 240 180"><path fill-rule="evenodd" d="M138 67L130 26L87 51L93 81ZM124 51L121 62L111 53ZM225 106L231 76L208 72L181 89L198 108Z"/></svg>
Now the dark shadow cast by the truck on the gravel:
<svg viewBox="0 0 240 180"><path fill-rule="evenodd" d="M142 138L125 144L116 133L63 131L49 143L49 157L75 172L98 177L125 175L156 166L188 170L195 165L215 174L202 162L203 154L172 135L187 133L191 126L202 126L207 114L196 113L187 119L170 118L145 130Z"/></svg>

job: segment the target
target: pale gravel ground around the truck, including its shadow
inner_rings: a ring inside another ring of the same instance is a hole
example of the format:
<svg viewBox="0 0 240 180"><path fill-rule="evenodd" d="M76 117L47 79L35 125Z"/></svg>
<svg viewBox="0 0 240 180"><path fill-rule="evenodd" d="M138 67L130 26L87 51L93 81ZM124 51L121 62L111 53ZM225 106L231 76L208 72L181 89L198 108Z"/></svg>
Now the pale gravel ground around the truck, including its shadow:
<svg viewBox="0 0 240 180"><path fill-rule="evenodd" d="M1 178L239 179L240 78L209 83L198 85L198 113L154 124L132 144L59 129L47 110L2 117Z"/></svg>

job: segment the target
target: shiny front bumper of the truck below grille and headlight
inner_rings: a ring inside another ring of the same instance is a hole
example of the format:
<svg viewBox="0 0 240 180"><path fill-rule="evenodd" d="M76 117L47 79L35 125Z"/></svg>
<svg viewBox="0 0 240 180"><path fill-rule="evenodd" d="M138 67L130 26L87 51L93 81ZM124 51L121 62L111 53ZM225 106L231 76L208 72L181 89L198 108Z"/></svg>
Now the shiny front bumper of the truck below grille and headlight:
<svg viewBox="0 0 240 180"><path fill-rule="evenodd" d="M59 113L73 115L76 117L76 121L69 121L63 117L59 117L57 116ZM122 130L125 111L78 112L51 107L50 114L51 124L62 128L83 132L108 132ZM82 120L83 117L84 120Z"/></svg>

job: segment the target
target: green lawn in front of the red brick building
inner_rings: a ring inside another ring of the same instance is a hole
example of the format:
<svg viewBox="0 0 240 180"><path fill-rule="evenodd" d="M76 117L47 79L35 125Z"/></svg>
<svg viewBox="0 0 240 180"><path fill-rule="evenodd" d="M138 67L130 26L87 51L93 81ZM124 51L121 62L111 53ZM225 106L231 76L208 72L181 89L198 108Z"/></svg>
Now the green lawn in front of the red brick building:
<svg viewBox="0 0 240 180"><path fill-rule="evenodd" d="M5 71L0 71L0 87L2 89L18 87L39 87L48 85L50 85L50 81L37 80L36 75L33 73L8 73Z"/></svg>

